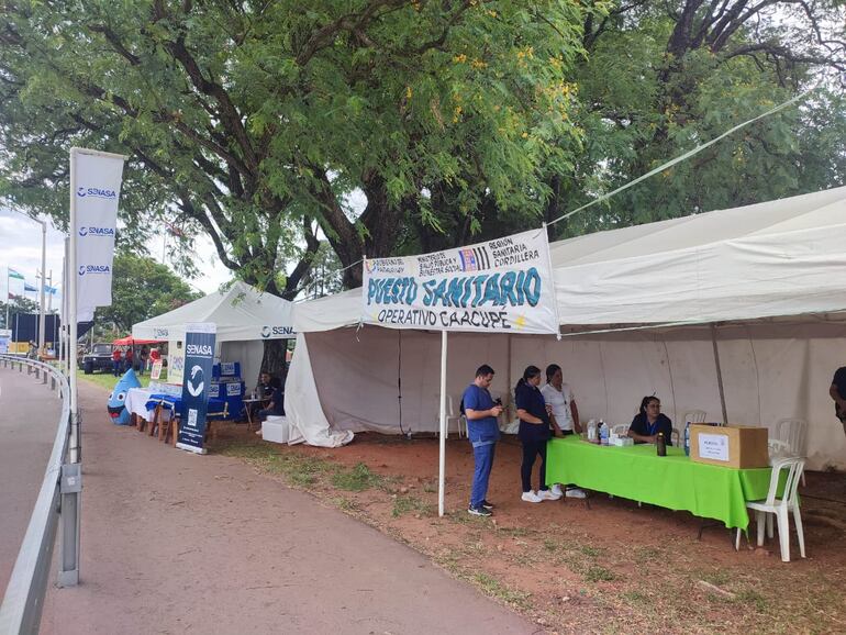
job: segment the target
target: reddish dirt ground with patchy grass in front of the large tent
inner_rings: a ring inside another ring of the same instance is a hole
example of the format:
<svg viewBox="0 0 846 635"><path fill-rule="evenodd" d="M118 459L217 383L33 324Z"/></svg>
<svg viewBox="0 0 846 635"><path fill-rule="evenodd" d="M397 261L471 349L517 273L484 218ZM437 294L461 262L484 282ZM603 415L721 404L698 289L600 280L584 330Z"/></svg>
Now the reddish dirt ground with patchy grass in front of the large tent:
<svg viewBox="0 0 846 635"><path fill-rule="evenodd" d="M594 493L590 506L520 500L520 447L497 450L492 519L466 512L472 455L447 444L445 517L437 517L437 441L359 434L337 449L281 446L243 425L212 453L240 456L402 541L549 633L846 632L846 475L811 472L803 497L806 559L792 537L733 547L701 519Z"/></svg>

